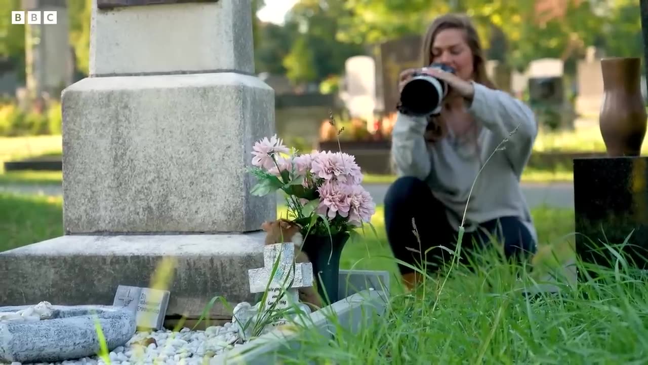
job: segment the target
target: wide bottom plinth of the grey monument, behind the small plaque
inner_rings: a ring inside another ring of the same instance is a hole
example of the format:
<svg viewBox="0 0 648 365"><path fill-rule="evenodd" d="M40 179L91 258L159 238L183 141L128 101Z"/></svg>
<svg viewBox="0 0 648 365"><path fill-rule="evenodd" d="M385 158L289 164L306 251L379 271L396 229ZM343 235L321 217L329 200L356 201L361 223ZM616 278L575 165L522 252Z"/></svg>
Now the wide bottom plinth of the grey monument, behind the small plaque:
<svg viewBox="0 0 648 365"><path fill-rule="evenodd" d="M0 253L0 304L47 300L61 305L111 305L119 285L151 287L162 258L174 262L167 318L199 318L214 296L213 319L253 301L248 269L263 264L265 233L61 236Z"/></svg>

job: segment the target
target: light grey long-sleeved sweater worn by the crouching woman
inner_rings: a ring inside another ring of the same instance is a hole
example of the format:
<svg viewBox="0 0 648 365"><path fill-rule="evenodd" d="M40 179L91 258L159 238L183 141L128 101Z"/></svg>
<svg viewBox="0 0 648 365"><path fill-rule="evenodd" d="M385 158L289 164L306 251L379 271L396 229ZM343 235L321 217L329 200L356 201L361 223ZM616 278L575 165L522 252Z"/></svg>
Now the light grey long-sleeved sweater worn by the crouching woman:
<svg viewBox="0 0 648 365"><path fill-rule="evenodd" d="M520 176L538 133L533 112L522 101L500 90L474 82L474 99L467 105L478 123L477 144L462 143L450 134L438 142L424 140L427 121L398 114L392 134L391 155L397 175L425 181L446 206L450 224L459 229L470 187L478 171L500 146L476 180L466 211L465 230L501 216L519 217L537 243L531 213L520 188ZM510 135L517 127L513 135ZM434 224L434 222L430 222Z"/></svg>

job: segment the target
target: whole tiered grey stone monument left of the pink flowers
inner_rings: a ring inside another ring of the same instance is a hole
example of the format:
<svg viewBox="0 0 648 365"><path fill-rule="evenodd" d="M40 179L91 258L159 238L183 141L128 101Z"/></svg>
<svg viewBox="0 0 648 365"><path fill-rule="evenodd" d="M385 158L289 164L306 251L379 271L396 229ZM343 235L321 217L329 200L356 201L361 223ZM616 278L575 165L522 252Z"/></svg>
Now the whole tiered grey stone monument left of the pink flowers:
<svg viewBox="0 0 648 365"><path fill-rule="evenodd" d="M253 297L277 206L248 194L252 146L275 132L250 0L156 3L93 2L89 77L62 93L64 236L0 253L3 305L110 305L163 258L167 318Z"/></svg>

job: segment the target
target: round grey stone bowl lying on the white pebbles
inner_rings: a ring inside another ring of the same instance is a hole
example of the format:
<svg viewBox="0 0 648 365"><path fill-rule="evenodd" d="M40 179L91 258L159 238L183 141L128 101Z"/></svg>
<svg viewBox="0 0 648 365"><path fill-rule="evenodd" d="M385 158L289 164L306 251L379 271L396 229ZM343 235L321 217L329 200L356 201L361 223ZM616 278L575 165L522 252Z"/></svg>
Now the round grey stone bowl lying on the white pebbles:
<svg viewBox="0 0 648 365"><path fill-rule="evenodd" d="M16 312L30 306L0 307ZM95 320L108 350L123 346L135 334L135 314L126 308L53 305L52 318L40 321L0 321L0 362L57 362L97 355Z"/></svg>

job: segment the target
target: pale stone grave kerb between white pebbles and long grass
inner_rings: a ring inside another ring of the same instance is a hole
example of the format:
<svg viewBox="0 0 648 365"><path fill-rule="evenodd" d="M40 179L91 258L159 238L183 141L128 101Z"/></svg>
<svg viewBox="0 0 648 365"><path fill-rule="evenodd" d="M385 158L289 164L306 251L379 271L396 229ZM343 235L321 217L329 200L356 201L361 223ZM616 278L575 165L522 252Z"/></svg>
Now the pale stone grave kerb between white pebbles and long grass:
<svg viewBox="0 0 648 365"><path fill-rule="evenodd" d="M254 340L237 346L210 360L210 365L266 365L279 364L286 353L297 351L301 331L316 331L323 340L331 337L336 329L358 333L376 315L382 316L387 307L386 294L380 290L362 290L332 305L321 308L306 318L297 317L294 326L277 327Z"/></svg>

